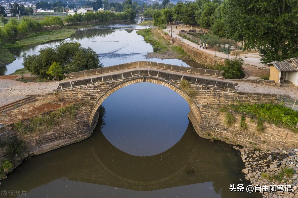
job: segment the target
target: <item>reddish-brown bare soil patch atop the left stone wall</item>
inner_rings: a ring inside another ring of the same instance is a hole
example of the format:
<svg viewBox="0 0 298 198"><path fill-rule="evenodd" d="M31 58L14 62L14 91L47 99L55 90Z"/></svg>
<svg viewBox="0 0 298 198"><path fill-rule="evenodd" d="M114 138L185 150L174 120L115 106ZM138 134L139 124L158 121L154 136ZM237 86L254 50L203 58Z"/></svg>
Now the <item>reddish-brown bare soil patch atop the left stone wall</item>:
<svg viewBox="0 0 298 198"><path fill-rule="evenodd" d="M0 113L0 123L10 124L70 105L69 102L38 100Z"/></svg>

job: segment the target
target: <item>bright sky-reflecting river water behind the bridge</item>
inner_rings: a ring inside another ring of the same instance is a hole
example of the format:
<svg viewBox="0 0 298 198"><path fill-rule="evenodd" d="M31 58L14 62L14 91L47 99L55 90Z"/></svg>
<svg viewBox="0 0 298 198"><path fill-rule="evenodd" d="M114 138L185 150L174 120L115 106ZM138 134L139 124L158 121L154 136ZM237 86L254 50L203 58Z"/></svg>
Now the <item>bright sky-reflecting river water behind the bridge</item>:
<svg viewBox="0 0 298 198"><path fill-rule="evenodd" d="M128 22L125 22L128 23ZM133 61L155 61L167 64L206 68L193 61L186 60L188 64L179 59L145 58L144 55L153 52L153 47L144 41L144 37L136 34L137 29L149 28L133 24L117 24L108 26L93 26L80 28L76 34L65 41L79 42L83 47L91 47L100 56L104 66L129 63ZM60 41L59 41L60 42ZM37 54L42 47L54 47L59 42L50 42L43 45L35 45L25 49L13 50L15 61L0 67L0 75L9 75L16 69L23 68L22 55Z"/></svg>

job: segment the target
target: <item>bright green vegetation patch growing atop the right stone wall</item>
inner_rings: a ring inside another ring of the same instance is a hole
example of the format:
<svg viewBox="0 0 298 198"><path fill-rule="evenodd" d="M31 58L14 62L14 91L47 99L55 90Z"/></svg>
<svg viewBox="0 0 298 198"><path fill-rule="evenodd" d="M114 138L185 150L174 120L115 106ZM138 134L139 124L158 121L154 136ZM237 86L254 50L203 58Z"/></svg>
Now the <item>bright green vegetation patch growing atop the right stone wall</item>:
<svg viewBox="0 0 298 198"><path fill-rule="evenodd" d="M276 126L283 125L293 131L297 131L298 111L280 104L231 104L229 109L248 115L257 119L259 131L263 131L263 121L274 123Z"/></svg>

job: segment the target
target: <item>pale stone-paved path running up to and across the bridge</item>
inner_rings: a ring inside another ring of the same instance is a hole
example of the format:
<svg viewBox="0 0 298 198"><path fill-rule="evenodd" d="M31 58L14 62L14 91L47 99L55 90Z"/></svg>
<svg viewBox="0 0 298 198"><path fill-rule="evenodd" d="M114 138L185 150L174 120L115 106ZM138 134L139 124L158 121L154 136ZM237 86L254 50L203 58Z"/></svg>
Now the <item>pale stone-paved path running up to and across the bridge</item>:
<svg viewBox="0 0 298 198"><path fill-rule="evenodd" d="M125 70L119 70L104 74L97 74L97 75L91 75L91 76L83 76L79 78L73 78L73 79L65 79L60 82L65 81L72 81L72 80L81 80L86 79L90 77L99 77L99 76L105 76L108 74L119 74L122 72L127 71L133 71L138 69L146 69L146 67L141 68L132 68L132 69L125 69ZM164 71L164 70L161 70ZM169 71L168 71L169 72ZM170 71L170 73L178 73L175 71ZM190 74L188 74L190 75ZM190 75L197 77L199 75ZM206 79L216 79L215 77L207 77L207 76L200 76L201 78ZM239 82L234 80L226 80L228 82L238 82L238 85L235 87L237 91L239 92L247 92L247 93L266 93L266 94L278 94L278 95L284 95L284 96L290 96L294 100L298 100L298 89L293 87L273 87L268 86L264 84L258 84L258 83L248 83L248 82ZM54 89L58 88L58 84L60 82L57 81L51 81L51 82L44 82L44 83L22 83L20 81L15 80L7 80L7 79L0 79L0 105L10 103L16 99L21 99L22 97L30 94L48 94L51 93Z"/></svg>

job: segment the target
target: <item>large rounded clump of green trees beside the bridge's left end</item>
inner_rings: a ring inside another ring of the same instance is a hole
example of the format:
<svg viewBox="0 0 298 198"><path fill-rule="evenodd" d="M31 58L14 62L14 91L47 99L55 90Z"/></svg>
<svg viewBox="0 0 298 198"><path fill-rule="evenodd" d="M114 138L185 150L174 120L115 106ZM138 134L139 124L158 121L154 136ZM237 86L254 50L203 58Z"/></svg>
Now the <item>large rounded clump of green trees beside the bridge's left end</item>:
<svg viewBox="0 0 298 198"><path fill-rule="evenodd" d="M55 47L44 47L38 54L25 53L23 66L41 79L54 77L56 80L62 78L63 73L103 67L94 50L74 42L61 42Z"/></svg>

